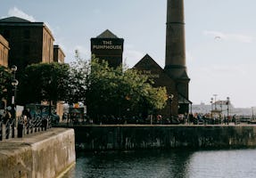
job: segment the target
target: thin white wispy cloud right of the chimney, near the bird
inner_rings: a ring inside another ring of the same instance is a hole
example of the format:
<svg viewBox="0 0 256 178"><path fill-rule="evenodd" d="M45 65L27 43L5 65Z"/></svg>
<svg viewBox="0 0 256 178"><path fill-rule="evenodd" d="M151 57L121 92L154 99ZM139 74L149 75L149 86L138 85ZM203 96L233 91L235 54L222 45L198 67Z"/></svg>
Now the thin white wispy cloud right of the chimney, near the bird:
<svg viewBox="0 0 256 178"><path fill-rule="evenodd" d="M212 36L215 39L223 39L228 41L236 41L236 42L242 42L242 43L252 43L252 41L255 39L253 36L246 36L244 34L233 34L233 33L223 33L220 31L211 31L211 30L205 30L203 31L203 34L205 36Z"/></svg>

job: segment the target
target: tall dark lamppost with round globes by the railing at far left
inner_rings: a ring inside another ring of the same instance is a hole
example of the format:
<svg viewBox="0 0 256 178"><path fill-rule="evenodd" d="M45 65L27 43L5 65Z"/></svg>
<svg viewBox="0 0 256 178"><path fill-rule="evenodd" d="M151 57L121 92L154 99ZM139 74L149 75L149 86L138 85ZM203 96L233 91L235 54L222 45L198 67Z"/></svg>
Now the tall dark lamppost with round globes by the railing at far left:
<svg viewBox="0 0 256 178"><path fill-rule="evenodd" d="M12 73L13 73L13 79L12 79L12 86L13 86L13 95L12 95L12 138L14 138L14 126L16 122L16 106L15 106L15 100L16 100L16 93L17 93L17 85L19 85L19 81L16 79L16 71L17 66L12 66Z"/></svg>

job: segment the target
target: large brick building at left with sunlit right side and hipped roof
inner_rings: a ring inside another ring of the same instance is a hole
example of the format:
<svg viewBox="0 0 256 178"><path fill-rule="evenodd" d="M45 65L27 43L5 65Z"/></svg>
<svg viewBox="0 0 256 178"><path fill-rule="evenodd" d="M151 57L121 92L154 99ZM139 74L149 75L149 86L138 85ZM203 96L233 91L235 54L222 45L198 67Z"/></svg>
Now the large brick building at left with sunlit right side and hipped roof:
<svg viewBox="0 0 256 178"><path fill-rule="evenodd" d="M0 34L9 42L9 66L16 65L18 74L29 64L54 61L54 36L44 22L4 18Z"/></svg>

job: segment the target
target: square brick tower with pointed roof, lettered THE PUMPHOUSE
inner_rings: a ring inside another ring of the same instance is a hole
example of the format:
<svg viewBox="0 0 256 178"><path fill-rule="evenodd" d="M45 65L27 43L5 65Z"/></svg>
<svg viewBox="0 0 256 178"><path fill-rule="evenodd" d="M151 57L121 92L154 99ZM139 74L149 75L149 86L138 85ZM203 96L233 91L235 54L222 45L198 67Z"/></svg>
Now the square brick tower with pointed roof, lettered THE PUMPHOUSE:
<svg viewBox="0 0 256 178"><path fill-rule="evenodd" d="M114 35L109 29L91 38L91 53L100 61L108 61L109 66L117 68L122 64L124 39Z"/></svg>

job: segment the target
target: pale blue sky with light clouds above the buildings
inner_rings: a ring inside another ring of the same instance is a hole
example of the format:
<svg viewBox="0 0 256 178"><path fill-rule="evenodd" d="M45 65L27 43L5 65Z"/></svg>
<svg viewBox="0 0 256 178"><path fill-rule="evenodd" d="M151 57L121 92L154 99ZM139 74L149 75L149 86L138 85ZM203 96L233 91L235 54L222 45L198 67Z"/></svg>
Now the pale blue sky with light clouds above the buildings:
<svg viewBox="0 0 256 178"><path fill-rule="evenodd" d="M132 68L148 53L165 62L166 0L0 0L0 18L45 22L66 54L90 59L90 38L105 29L124 38ZM210 104L230 98L235 108L256 107L256 1L184 0L189 99Z"/></svg>

